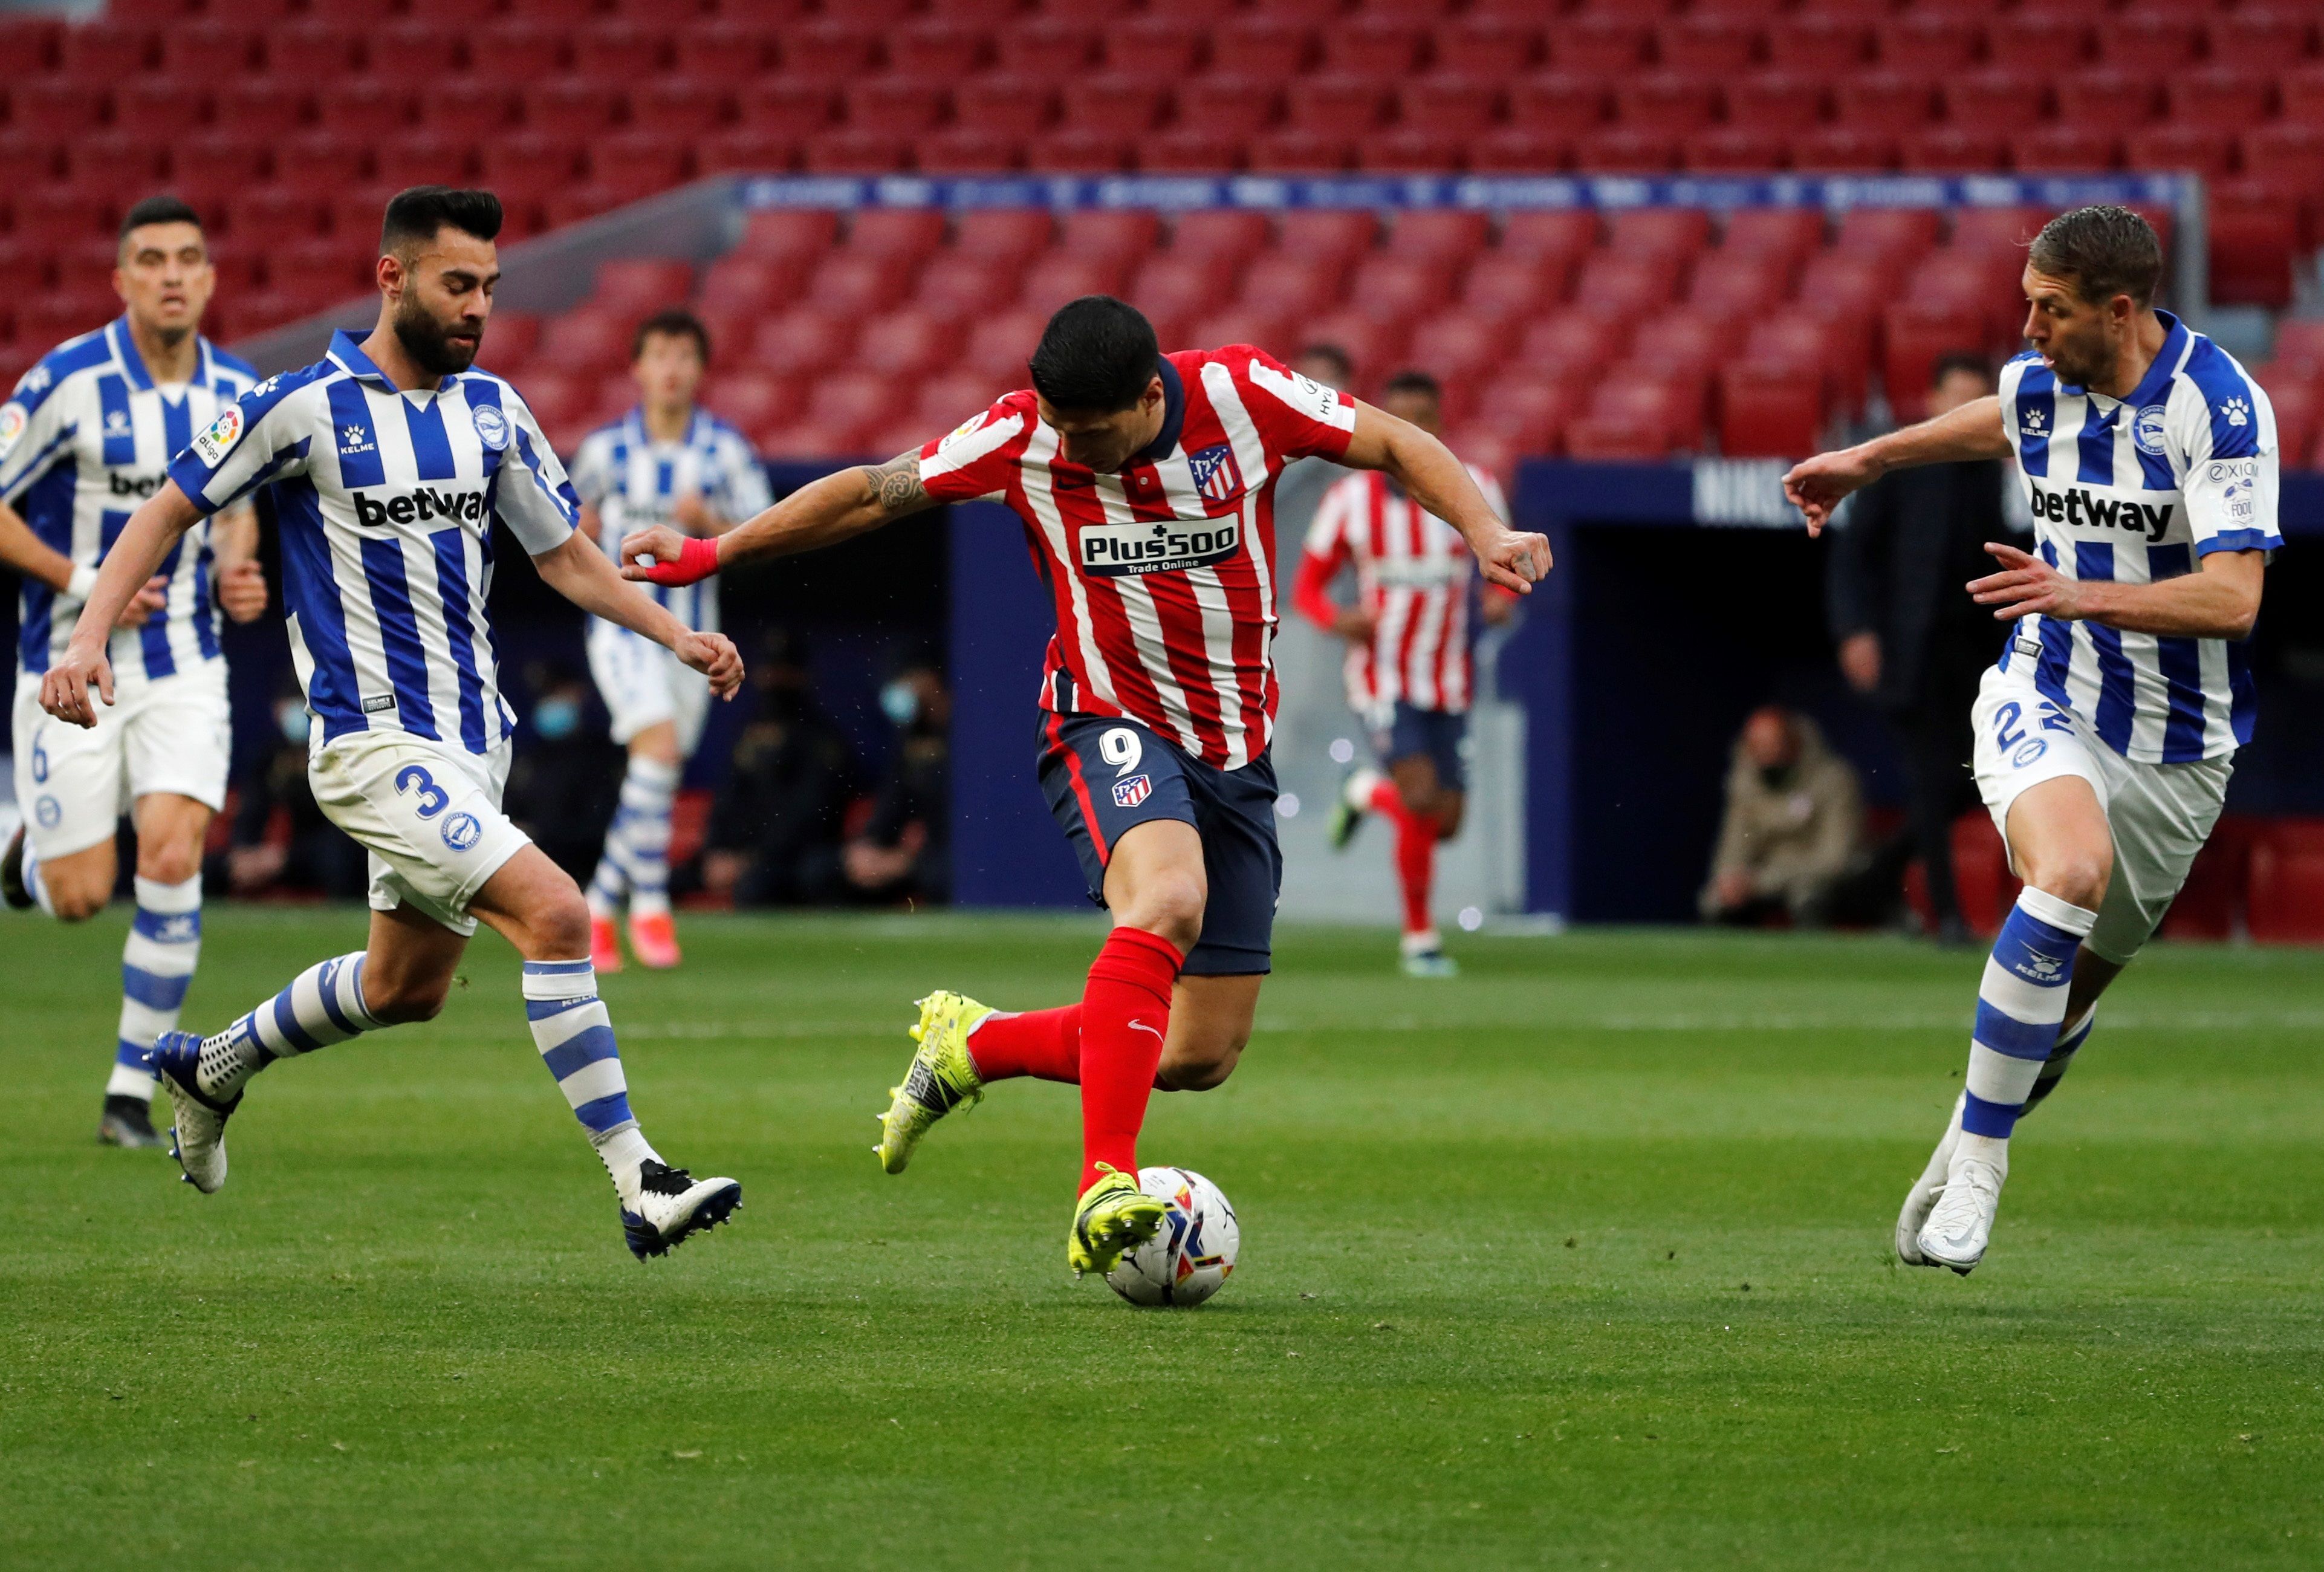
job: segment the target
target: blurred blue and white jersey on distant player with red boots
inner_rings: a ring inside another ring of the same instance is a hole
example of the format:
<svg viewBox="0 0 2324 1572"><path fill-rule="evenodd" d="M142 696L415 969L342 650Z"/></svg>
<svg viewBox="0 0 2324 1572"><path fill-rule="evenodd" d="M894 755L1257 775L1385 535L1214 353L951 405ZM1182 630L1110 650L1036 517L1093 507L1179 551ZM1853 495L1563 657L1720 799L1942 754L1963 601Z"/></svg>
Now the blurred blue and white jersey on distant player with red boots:
<svg viewBox="0 0 2324 1572"><path fill-rule="evenodd" d="M700 495L727 523L767 512L774 498L751 440L706 409L695 409L681 442L646 435L646 412L632 409L600 426L574 449L574 493L597 507L597 544L607 556L621 537L672 523L669 505ZM702 584L641 584L688 628L716 633L718 588Z"/></svg>

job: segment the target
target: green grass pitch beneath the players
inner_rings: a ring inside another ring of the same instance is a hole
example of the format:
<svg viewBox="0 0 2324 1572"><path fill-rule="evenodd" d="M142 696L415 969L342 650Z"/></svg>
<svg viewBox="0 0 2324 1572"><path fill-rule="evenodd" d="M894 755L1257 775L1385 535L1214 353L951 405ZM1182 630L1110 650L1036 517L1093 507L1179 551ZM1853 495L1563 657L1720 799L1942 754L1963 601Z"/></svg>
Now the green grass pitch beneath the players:
<svg viewBox="0 0 2324 1572"><path fill-rule="evenodd" d="M0 923L7 1567L2315 1567L2324 956L2168 949L2022 1130L1971 1279L1889 1260L1975 953L1292 928L1155 1100L1243 1265L1064 1274L1067 1088L888 1179L911 998L1078 991L1092 921L697 919L607 979L734 1228L637 1265L516 960L267 1072L202 1198L93 1142L125 912ZM360 944L214 909L188 1026Z"/></svg>

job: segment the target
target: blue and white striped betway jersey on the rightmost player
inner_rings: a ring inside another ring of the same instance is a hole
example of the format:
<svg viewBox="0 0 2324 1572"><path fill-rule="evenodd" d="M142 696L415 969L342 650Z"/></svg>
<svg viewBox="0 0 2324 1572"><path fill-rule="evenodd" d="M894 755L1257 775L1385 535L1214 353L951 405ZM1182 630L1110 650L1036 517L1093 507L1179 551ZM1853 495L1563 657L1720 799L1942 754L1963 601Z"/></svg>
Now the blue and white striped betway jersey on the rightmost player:
<svg viewBox="0 0 2324 1572"><path fill-rule="evenodd" d="M2036 353L2001 367L2001 423L2017 444L2036 551L2071 579L2152 584L2212 551L2284 544L2268 395L2231 353L2157 316L2168 337L2122 400L2061 386ZM2001 670L2033 660L2033 684L2124 758L2175 765L2252 739L2245 644L2029 623Z"/></svg>

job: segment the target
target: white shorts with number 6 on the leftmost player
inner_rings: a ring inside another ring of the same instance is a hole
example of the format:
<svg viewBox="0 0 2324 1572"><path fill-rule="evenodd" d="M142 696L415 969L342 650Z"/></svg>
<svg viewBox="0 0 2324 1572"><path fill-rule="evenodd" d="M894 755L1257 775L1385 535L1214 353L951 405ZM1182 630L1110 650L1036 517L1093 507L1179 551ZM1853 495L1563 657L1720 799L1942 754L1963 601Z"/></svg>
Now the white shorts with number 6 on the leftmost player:
<svg viewBox="0 0 2324 1572"><path fill-rule="evenodd" d="M40 707L40 677L16 679L16 807L33 853L53 860L114 837L130 805L153 791L225 807L232 756L225 663L202 660L174 677L114 674L114 702L98 700L88 730Z"/></svg>

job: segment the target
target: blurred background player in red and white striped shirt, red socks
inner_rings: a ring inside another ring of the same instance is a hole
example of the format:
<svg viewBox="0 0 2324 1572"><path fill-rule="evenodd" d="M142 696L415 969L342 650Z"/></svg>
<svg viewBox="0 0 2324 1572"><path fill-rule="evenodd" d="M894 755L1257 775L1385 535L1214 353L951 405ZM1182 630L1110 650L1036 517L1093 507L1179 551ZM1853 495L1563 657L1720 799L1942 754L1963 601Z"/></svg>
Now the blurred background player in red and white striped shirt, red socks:
<svg viewBox="0 0 2324 1572"><path fill-rule="evenodd" d="M1443 428L1443 391L1427 372L1397 372L1380 409L1432 437ZM1501 486L1476 465L1469 479L1508 523ZM1355 605L1332 600L1332 579L1355 567ZM1292 600L1348 642L1348 707L1371 733L1387 774L1355 770L1332 805L1332 846L1346 849L1364 814L1397 826L1397 884L1404 888L1404 972L1457 977L1429 916L1436 842L1459 835L1469 805L1469 698L1476 660L1469 602L1476 558L1443 519L1425 512L1385 472L1350 474L1325 493L1299 556ZM1508 621L1518 598L1487 586L1487 623Z"/></svg>

